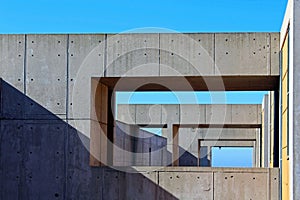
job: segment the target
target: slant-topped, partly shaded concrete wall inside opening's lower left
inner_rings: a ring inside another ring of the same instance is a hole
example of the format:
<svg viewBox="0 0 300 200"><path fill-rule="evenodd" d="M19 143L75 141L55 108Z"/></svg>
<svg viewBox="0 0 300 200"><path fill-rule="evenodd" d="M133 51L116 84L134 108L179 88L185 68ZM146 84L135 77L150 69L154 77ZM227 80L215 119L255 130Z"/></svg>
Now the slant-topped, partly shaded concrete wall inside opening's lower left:
<svg viewBox="0 0 300 200"><path fill-rule="evenodd" d="M122 122L116 123L115 130L114 166L167 165L167 138Z"/></svg>

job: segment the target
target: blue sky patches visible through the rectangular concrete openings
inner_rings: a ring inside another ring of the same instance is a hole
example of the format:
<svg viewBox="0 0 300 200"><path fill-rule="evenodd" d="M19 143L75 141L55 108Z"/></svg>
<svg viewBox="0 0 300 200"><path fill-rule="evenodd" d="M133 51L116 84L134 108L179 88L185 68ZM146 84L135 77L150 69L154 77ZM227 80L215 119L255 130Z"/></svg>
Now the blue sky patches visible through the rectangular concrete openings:
<svg viewBox="0 0 300 200"><path fill-rule="evenodd" d="M117 104L261 104L268 91L117 92ZM142 128L161 135L161 128ZM252 147L213 147L212 167L252 167Z"/></svg>

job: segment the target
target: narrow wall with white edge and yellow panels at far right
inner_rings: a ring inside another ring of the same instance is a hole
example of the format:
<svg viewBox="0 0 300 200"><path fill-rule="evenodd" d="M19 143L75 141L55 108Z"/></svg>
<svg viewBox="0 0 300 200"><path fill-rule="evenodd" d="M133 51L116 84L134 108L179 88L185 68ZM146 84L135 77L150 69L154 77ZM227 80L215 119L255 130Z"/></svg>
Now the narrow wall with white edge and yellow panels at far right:
<svg viewBox="0 0 300 200"><path fill-rule="evenodd" d="M289 0L286 8L286 13L284 21L281 27L281 47L284 51L284 43L286 43L286 34L289 32L289 46L288 46L288 84L289 84L289 98L287 100L287 106L289 114L286 117L282 116L282 122L284 118L288 117L286 127L282 127L282 135L288 135L288 143L290 148L286 152L282 152L282 167L285 170L282 172L282 175L285 176L285 182L287 181L289 185L283 184L282 187L285 188L283 191L283 199L299 199L300 196L300 154L299 154L299 141L300 134L298 132L299 125L299 99L300 99L300 88L299 88L299 49L300 49L300 40L299 40L299 1ZM282 76L283 78L283 76ZM283 102L282 102L283 103ZM283 140L282 140L283 142ZM284 147L284 146L282 146ZM289 160L286 161L288 155ZM285 157L284 157L285 156Z"/></svg>

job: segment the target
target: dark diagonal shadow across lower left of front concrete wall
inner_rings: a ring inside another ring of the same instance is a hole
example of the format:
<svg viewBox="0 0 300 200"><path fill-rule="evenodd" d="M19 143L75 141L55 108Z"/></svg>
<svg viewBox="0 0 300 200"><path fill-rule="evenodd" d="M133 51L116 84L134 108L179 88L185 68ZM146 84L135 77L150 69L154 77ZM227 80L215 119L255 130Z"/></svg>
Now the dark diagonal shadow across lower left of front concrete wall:
<svg viewBox="0 0 300 200"><path fill-rule="evenodd" d="M176 199L142 174L90 167L89 138L2 79L0 101L0 199Z"/></svg>

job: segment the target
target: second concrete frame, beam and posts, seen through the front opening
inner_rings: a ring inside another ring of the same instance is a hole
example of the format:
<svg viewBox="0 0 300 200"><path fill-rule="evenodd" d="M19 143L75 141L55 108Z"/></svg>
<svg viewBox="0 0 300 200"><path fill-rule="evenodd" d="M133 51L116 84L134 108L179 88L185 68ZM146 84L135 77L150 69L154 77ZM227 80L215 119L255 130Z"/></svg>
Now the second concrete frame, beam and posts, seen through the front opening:
<svg viewBox="0 0 300 200"><path fill-rule="evenodd" d="M243 129L261 129L261 105L199 105L199 104L182 104L182 105L118 105L117 109L118 115L117 118L120 121L123 121L128 124L140 125L142 127L152 127L152 126L163 126L166 125L167 128L163 129L163 136L168 138L168 150L170 152L178 151L178 137L174 136L174 126L180 126L180 128L187 127L198 127L198 128L243 128ZM213 116L216 120L215 124L210 123L212 117L211 112L217 112ZM222 113L225 112L225 117L222 116ZM199 117L200 116L200 117ZM218 118L216 118L219 117ZM223 145L233 145L229 140L239 140L243 141L245 144L243 146L253 146L253 163L254 166L260 167L261 158L260 158L260 132L256 134L254 139L256 142L249 142L243 138L242 135L236 135L234 138L223 138L228 140ZM177 138L174 141L174 138ZM222 140L218 137L217 140ZM253 139L250 139L253 141ZM174 149L174 147L177 147ZM178 153L178 152L177 152ZM173 154L172 163L174 163L175 158L178 158L178 155ZM178 166L178 162L173 164L173 166Z"/></svg>

